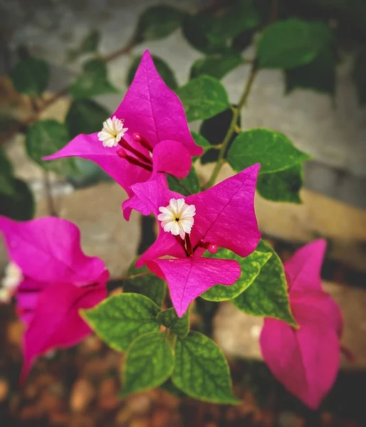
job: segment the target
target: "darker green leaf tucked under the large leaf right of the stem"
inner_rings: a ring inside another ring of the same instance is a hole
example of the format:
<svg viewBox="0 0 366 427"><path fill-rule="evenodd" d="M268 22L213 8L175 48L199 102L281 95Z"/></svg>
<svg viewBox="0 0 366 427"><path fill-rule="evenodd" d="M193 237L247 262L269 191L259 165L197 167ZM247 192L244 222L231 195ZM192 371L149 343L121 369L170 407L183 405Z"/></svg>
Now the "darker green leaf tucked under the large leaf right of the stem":
<svg viewBox="0 0 366 427"><path fill-rule="evenodd" d="M299 191L302 186L303 167L296 164L281 172L259 175L256 189L264 199L301 204Z"/></svg>

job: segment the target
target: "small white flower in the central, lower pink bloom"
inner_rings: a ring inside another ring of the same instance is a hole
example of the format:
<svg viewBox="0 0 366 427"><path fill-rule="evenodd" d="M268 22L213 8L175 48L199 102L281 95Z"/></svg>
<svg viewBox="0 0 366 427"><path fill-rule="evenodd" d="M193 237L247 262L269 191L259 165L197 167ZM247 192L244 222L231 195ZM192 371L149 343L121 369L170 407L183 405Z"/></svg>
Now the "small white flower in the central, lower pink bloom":
<svg viewBox="0 0 366 427"><path fill-rule="evenodd" d="M187 205L184 199L170 199L169 205L159 208L161 214L157 219L162 222L162 228L167 233L172 233L174 236L184 238L186 233L191 233L194 223L194 215L196 215L196 206Z"/></svg>

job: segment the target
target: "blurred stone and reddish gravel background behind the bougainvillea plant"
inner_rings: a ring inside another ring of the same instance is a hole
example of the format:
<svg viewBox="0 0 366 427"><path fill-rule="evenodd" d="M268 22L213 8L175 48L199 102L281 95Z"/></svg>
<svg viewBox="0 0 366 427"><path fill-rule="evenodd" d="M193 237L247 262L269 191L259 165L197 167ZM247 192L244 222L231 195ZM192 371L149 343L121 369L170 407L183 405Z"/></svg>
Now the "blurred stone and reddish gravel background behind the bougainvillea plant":
<svg viewBox="0 0 366 427"><path fill-rule="evenodd" d="M142 41L131 43L139 17L147 8L164 4L189 14L199 12L204 20L206 16L220 17L234 3L0 0L0 144L14 176L25 183L19 184L23 197L20 201L0 191L1 214L9 214L10 209L14 217L25 219L31 216L29 210L34 209L35 216L56 211L74 221L82 232L85 252L105 260L113 278L113 292L118 292L118 279L137 253L154 239L152 221L142 221L136 213L130 223L123 221L120 204L124 192L91 163L77 161L77 172L66 172L62 167L58 172L43 169L37 163L39 154L32 151L29 143L24 144L25 127L35 115L41 120L60 122L68 117L70 135L80 133L81 122L83 130L95 132L93 126L96 122L99 129L100 115L107 117L120 103L131 81L135 60L147 48L169 64L172 73L165 70L163 77L170 78L171 85L183 85L189 80L192 63L207 53L203 23L198 24L197 30L197 24L186 18L172 31L155 28L163 36L145 33ZM313 238L327 239L328 254L322 273L325 289L343 310L343 343L355 354L355 360L350 363L343 359L333 391L319 411L308 411L261 362L258 336L262 320L244 315L229 302L213 307L198 300L194 322L201 323L203 329L209 328L206 332L231 362L235 391L243 398L241 406L202 404L161 389L121 401L118 391L122 355L105 347L95 336L73 349L47 354L37 362L26 387L20 389L23 329L14 307L1 305L1 426L366 426L366 3L255 0L253 4L261 22L269 17L298 16L323 21L333 29L335 59L331 64L320 63L315 69L292 75L281 70L258 73L241 116L241 127L283 132L296 147L313 157L305 163L304 187L300 191L303 204L274 203L258 196L258 223L283 259ZM164 19L159 25L164 27ZM233 41L245 58L253 58L258 28L246 29ZM114 89L93 97L95 104L87 105L85 114L79 108L77 115L74 108L72 122L70 108L74 104L64 88L80 74L85 58L93 58L97 45L103 58L108 58L108 79ZM46 60L50 66L50 80L40 105L34 105L14 87L14 68L29 56ZM221 80L233 103L239 100L249 68L243 63ZM225 133L225 117L216 123L219 124L214 133ZM194 122L192 130L198 131L201 125ZM49 144L51 147L52 142ZM50 154L58 149L51 148ZM209 177L212 167L212 163L197 165L202 181ZM231 174L229 166L225 166L220 179ZM24 201L32 197L34 208L29 207L31 202ZM1 272L6 263L1 246Z"/></svg>

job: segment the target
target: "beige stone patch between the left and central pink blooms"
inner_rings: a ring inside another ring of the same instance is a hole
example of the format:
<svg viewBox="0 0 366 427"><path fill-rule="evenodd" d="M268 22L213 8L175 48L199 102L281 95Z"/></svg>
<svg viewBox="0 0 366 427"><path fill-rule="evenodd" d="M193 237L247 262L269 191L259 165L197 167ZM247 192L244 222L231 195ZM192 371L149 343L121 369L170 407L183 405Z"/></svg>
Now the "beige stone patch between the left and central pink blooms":
<svg viewBox="0 0 366 427"><path fill-rule="evenodd" d="M123 200L125 191L111 183L55 199L58 214L80 228L85 253L102 258L113 278L120 278L126 272L140 241L139 215L132 212L130 221L125 221L121 209ZM47 214L46 201L41 201L36 216Z"/></svg>

